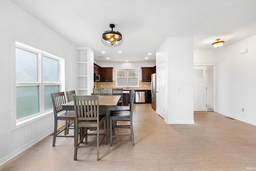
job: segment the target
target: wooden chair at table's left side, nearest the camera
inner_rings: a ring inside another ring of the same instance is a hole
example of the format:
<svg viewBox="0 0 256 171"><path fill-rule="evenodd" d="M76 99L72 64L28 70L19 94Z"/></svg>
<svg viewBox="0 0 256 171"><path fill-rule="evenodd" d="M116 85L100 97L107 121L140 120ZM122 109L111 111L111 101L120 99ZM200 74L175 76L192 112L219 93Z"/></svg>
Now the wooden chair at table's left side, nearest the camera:
<svg viewBox="0 0 256 171"><path fill-rule="evenodd" d="M51 93L51 97L52 97L52 107L53 107L53 113L54 113L54 133L53 133L53 141L52 141L52 146L54 147L56 137L74 137L74 136L66 135L66 131L68 129L74 129L73 127L72 128L68 127L67 122L75 120L75 112L64 111L62 109L61 105L66 103L64 91L60 93ZM58 120L65 121L65 127L57 132ZM64 135L58 135L62 131L64 131Z"/></svg>

